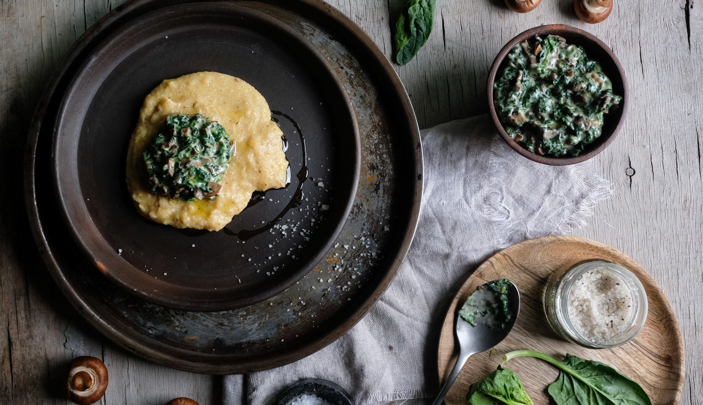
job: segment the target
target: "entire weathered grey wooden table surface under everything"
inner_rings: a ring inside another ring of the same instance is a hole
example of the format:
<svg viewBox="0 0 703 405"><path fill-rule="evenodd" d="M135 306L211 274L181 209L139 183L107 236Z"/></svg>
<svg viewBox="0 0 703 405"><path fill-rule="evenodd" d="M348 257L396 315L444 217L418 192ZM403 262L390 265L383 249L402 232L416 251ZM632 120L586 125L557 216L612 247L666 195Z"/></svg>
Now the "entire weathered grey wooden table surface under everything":
<svg viewBox="0 0 703 405"><path fill-rule="evenodd" d="M0 402L65 404L58 382L74 356L111 364L103 404L164 404L181 395L217 404L221 378L138 359L98 335L58 293L27 230L22 200L25 134L46 80L87 27L120 0L0 0ZM392 57L402 0L331 0ZM576 19L571 0L543 0L519 15L502 0L437 1L434 32L396 70L420 128L486 113L485 80L518 32L566 23L609 44L630 82L617 139L593 159L614 193L574 234L612 245L659 282L681 323L687 352L681 404L703 403L703 8L692 0L618 1L598 25ZM10 195L11 193L11 195Z"/></svg>

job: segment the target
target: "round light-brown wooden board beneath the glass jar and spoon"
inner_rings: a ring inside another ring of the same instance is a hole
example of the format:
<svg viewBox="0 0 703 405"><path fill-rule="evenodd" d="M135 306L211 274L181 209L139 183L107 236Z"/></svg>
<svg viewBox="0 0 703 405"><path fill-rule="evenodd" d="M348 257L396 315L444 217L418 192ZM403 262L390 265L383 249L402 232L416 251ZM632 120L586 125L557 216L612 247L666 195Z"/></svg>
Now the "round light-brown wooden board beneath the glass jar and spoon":
<svg viewBox="0 0 703 405"><path fill-rule="evenodd" d="M647 291L649 311L643 330L631 342L614 349L586 349L566 342L548 326L543 311L543 290L550 274L561 266L594 258L630 269ZM638 382L652 404L678 404L684 378L683 340L669 300L633 259L610 246L574 236L526 240L496 253L476 269L454 297L442 324L437 361L442 383L456 363L454 328L460 303L479 285L496 278L509 278L520 290L517 323L495 349L469 358L446 396L447 405L464 405L469 386L494 371L503 354L518 349L538 350L559 360L569 353L601 361ZM529 357L512 359L505 366L517 373L534 404L550 404L546 387L557 379L556 368Z"/></svg>

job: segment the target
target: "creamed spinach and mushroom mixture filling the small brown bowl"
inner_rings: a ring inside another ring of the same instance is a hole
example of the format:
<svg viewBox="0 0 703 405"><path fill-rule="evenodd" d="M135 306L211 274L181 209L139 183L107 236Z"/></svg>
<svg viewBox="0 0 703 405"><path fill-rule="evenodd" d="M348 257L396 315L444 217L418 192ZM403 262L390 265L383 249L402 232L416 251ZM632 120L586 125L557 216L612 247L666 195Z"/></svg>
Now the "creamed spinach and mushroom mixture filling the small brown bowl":
<svg viewBox="0 0 703 405"><path fill-rule="evenodd" d="M512 139L532 153L562 158L578 156L598 139L604 115L622 97L613 94L610 79L581 46L548 35L508 53L494 100Z"/></svg>

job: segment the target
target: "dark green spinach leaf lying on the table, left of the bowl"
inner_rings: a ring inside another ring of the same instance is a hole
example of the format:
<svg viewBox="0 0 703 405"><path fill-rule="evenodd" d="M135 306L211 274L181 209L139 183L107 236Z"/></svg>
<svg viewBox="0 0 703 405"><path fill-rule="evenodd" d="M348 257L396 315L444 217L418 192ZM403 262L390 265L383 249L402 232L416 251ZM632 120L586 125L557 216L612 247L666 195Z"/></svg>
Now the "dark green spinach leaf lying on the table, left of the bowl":
<svg viewBox="0 0 703 405"><path fill-rule="evenodd" d="M396 23L396 62L405 65L420 51L432 32L435 0L410 0Z"/></svg>

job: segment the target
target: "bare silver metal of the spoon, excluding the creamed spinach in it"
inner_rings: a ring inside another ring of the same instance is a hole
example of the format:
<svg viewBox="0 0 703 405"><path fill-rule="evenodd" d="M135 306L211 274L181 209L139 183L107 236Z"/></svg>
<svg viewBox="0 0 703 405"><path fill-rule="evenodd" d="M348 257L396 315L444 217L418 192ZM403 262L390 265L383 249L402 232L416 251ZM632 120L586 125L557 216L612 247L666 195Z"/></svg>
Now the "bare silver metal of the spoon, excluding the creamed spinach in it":
<svg viewBox="0 0 703 405"><path fill-rule="evenodd" d="M449 388L451 388L469 356L485 352L498 345L512 330L512 326L515 325L515 320L517 320L517 314L520 311L520 293L517 292L517 287L512 282L508 285L508 309L515 315L512 316L510 321L505 323L504 328L489 328L480 322L476 326L472 326L467 321L464 321L461 316L456 316L456 340L459 342L459 358L456 359L454 369L432 405L441 405L446 393L449 392Z"/></svg>

